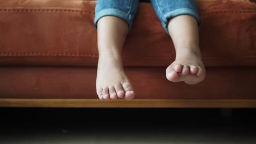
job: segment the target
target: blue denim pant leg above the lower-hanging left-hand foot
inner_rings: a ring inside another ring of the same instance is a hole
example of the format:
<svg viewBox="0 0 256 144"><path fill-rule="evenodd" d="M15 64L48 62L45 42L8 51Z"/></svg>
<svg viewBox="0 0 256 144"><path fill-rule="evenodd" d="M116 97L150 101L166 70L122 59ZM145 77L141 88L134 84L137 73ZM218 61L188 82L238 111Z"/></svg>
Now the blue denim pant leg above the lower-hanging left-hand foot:
<svg viewBox="0 0 256 144"><path fill-rule="evenodd" d="M116 16L125 20L131 29L132 21L138 11L139 0L97 0L94 26L103 16Z"/></svg>

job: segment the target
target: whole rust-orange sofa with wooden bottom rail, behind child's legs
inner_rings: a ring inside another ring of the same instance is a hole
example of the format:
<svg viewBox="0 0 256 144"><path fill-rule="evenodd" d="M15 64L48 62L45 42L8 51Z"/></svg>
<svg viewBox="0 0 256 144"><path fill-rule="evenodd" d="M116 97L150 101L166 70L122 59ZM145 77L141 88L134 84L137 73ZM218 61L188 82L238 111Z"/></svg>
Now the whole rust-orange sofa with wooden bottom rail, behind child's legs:
<svg viewBox="0 0 256 144"><path fill-rule="evenodd" d="M141 3L123 49L136 98L98 100L96 1L0 1L0 107L256 107L256 2L197 3L203 82L166 80L174 47Z"/></svg>

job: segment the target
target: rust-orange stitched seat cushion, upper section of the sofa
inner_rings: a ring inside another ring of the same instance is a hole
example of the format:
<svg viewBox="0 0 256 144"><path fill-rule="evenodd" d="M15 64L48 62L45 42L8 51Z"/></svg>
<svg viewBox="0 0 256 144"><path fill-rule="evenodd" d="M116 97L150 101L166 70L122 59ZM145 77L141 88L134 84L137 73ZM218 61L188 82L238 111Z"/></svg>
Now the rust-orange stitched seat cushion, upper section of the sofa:
<svg viewBox="0 0 256 144"><path fill-rule="evenodd" d="M96 1L0 1L0 65L96 66ZM256 65L255 1L198 1L206 67ZM126 66L167 66L170 37L141 3L123 49Z"/></svg>

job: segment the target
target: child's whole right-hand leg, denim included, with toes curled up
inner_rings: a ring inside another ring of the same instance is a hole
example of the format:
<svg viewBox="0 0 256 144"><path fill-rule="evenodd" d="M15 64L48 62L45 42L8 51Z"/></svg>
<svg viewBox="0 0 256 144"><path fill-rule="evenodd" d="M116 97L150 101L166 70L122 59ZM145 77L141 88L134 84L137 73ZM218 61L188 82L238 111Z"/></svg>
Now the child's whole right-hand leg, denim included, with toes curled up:
<svg viewBox="0 0 256 144"><path fill-rule="evenodd" d="M206 70L199 49L199 16L193 0L151 0L171 35L176 50L175 61L166 69L166 77L173 82L196 84L205 79Z"/></svg>

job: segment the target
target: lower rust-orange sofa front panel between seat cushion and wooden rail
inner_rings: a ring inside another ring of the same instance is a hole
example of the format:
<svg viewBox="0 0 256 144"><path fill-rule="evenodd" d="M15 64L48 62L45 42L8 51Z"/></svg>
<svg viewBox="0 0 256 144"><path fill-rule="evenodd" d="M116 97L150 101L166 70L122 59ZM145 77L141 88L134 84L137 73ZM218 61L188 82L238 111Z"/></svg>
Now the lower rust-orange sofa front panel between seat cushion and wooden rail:
<svg viewBox="0 0 256 144"><path fill-rule="evenodd" d="M166 80L165 67L125 68L135 99L256 99L256 67L208 68L197 85ZM0 99L97 99L95 67L0 67ZM249 77L249 79L246 79Z"/></svg>

